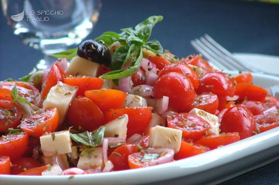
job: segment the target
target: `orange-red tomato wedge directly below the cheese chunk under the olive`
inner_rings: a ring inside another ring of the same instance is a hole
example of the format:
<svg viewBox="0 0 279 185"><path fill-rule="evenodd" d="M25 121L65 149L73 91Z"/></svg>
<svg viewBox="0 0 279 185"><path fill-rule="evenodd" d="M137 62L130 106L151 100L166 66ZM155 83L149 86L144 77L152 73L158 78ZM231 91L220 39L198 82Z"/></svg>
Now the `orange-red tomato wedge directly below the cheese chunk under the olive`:
<svg viewBox="0 0 279 185"><path fill-rule="evenodd" d="M93 77L73 77L64 78L64 83L72 86L78 86L78 92L76 97L84 96L84 92L87 90L100 89L103 86L104 80L102 78Z"/></svg>

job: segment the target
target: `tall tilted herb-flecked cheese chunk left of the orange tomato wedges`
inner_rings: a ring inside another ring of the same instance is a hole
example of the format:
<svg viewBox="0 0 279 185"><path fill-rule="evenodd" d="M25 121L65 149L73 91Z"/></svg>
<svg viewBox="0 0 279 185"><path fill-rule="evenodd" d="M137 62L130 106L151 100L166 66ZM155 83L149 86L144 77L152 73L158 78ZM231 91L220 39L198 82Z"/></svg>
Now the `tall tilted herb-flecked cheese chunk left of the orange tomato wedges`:
<svg viewBox="0 0 279 185"><path fill-rule="evenodd" d="M59 113L59 124L61 124L77 91L77 86L63 84L61 81L58 81L57 85L49 90L43 103L43 109L56 107Z"/></svg>

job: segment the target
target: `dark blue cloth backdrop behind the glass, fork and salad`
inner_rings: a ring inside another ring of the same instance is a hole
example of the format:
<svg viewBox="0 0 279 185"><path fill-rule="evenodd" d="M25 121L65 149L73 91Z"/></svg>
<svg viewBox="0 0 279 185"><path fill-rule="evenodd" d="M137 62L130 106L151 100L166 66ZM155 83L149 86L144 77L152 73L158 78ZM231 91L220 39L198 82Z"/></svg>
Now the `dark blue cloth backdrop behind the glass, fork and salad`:
<svg viewBox="0 0 279 185"><path fill-rule="evenodd" d="M164 20L150 39L160 41L178 57L195 53L190 40L208 33L231 52L279 55L279 4L256 1L102 1L99 21L87 37L102 32L120 32L150 15ZM0 80L22 77L42 58L13 35L0 10ZM264 61L263 61L264 62ZM279 184L279 161L241 175L223 184Z"/></svg>

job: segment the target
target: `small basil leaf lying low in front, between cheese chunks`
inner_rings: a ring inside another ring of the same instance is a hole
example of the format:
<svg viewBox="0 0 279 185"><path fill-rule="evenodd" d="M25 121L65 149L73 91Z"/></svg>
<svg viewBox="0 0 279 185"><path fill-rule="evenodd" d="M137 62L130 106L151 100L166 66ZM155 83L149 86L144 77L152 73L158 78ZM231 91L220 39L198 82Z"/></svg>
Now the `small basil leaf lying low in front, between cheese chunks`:
<svg viewBox="0 0 279 185"><path fill-rule="evenodd" d="M100 126L96 132L85 131L83 133L72 134L71 138L78 143L82 143L86 146L96 147L101 144L104 139L105 126Z"/></svg>

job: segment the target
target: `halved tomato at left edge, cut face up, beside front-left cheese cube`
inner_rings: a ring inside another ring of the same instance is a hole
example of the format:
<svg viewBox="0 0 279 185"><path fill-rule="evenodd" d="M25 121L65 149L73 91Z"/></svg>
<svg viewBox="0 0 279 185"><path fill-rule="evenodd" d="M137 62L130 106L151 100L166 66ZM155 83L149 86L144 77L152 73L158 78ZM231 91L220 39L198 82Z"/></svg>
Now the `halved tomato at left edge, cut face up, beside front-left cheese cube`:
<svg viewBox="0 0 279 185"><path fill-rule="evenodd" d="M0 156L6 155L11 160L21 157L28 146L28 134L26 132L9 133L0 137Z"/></svg>

